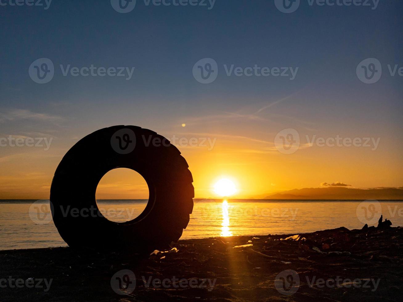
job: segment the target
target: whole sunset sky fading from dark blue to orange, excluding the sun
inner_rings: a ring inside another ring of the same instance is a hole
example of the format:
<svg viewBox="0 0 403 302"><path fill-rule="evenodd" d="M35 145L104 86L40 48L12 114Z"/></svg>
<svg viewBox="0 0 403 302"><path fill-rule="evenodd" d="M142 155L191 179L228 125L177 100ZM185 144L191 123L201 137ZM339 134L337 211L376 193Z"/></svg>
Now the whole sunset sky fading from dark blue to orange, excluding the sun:
<svg viewBox="0 0 403 302"><path fill-rule="evenodd" d="M49 198L64 154L112 125L178 138L199 198L222 178L239 198L403 184L401 1L14 3L0 1L0 199ZM147 198L133 173L97 198Z"/></svg>

